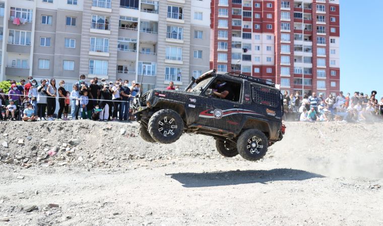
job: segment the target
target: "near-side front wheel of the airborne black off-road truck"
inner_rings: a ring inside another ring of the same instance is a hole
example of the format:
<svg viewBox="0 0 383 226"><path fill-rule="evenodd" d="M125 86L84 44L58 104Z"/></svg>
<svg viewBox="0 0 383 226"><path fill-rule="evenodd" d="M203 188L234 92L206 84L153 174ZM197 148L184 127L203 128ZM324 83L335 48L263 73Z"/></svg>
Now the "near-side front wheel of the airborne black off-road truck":
<svg viewBox="0 0 383 226"><path fill-rule="evenodd" d="M148 131L150 136L158 143L171 144L176 142L182 135L183 120L176 111L162 109L155 112L150 118Z"/></svg>

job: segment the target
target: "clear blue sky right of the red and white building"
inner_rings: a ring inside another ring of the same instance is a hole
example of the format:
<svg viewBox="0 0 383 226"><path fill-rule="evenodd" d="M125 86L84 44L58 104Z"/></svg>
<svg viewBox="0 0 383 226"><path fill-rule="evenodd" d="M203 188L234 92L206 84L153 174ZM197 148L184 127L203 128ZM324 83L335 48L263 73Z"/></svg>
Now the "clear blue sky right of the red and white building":
<svg viewBox="0 0 383 226"><path fill-rule="evenodd" d="M341 90L383 96L382 0L340 1Z"/></svg>

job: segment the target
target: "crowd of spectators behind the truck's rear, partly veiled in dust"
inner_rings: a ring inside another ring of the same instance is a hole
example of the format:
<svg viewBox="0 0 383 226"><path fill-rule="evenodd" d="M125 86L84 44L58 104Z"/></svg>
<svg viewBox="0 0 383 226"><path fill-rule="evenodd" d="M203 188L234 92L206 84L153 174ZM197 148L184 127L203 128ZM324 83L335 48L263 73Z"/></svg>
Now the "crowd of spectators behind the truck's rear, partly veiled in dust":
<svg viewBox="0 0 383 226"><path fill-rule="evenodd" d="M316 92L304 93L301 97L299 92L295 95L283 94L283 108L285 121L300 122L371 122L383 115L383 97L380 101L376 98L376 91L371 95L363 92L354 92L353 96L343 91L336 97L330 94L327 98ZM380 118L381 119L381 118Z"/></svg>

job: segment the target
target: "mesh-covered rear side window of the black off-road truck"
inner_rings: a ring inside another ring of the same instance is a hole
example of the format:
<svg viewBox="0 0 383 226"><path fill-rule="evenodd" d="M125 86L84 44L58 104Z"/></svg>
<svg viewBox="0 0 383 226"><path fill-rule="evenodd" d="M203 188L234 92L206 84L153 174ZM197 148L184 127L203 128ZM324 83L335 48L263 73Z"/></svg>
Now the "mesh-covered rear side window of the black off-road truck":
<svg viewBox="0 0 383 226"><path fill-rule="evenodd" d="M251 85L252 101L254 103L269 107L278 107L280 104L280 94L278 90L271 89L262 85Z"/></svg>

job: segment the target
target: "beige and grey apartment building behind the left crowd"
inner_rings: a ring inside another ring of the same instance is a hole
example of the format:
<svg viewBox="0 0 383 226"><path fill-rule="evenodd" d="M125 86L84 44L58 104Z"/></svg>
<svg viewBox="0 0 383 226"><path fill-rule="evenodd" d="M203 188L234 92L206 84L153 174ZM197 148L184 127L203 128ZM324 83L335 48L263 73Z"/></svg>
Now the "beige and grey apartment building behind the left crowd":
<svg viewBox="0 0 383 226"><path fill-rule="evenodd" d="M0 2L0 77L129 79L185 87L209 70L210 0Z"/></svg>

